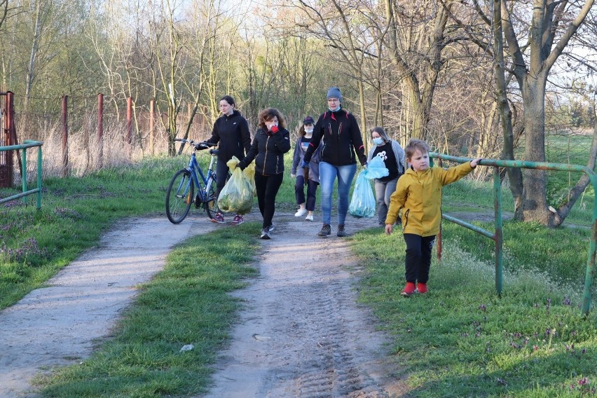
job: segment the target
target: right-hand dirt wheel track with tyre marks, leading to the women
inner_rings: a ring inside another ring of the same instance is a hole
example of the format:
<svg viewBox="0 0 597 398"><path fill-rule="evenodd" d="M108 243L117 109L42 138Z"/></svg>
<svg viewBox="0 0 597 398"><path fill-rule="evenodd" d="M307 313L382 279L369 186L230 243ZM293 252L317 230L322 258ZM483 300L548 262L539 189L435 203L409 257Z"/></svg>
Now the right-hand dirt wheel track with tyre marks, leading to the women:
<svg viewBox="0 0 597 398"><path fill-rule="evenodd" d="M207 397L403 396L385 336L356 303L349 242L284 220L263 242L261 276L235 294L247 308Z"/></svg>

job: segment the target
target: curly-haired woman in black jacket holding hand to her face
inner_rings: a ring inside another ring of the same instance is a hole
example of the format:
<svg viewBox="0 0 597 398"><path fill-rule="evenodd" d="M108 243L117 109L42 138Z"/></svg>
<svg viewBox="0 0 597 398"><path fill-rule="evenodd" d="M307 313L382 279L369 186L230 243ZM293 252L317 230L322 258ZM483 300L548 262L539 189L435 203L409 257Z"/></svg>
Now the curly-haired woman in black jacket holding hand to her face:
<svg viewBox="0 0 597 398"><path fill-rule="evenodd" d="M275 197L284 178L284 153L290 151L290 133L280 111L274 108L259 112L259 129L251 149L238 163L245 169L255 159L255 188L259 212L263 217L261 239L269 239L273 230Z"/></svg>

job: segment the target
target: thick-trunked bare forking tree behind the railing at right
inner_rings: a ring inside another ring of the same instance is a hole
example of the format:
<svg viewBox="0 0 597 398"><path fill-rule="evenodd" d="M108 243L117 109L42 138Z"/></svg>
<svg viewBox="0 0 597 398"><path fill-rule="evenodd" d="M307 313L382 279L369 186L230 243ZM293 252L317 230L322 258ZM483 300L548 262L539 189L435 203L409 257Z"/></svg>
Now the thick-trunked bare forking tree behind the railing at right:
<svg viewBox="0 0 597 398"><path fill-rule="evenodd" d="M517 10L521 7L517 4ZM521 46L516 36L514 15L507 2L502 2L502 28L512 57L512 74L521 90L524 104L525 160L545 161L545 92L551 68L568 46L593 6L586 1L534 0L533 8L523 8L516 21L530 15L526 43ZM528 49L528 56L525 50ZM558 211L551 212L547 203L547 174L544 170L523 170L524 186L521 214L524 221L537 221L557 226L563 221Z"/></svg>

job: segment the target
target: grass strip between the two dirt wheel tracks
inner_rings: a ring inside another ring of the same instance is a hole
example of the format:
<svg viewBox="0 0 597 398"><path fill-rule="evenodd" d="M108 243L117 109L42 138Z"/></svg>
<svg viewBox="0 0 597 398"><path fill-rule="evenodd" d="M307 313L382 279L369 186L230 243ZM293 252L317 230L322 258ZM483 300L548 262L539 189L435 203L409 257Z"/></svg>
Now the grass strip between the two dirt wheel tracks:
<svg viewBox="0 0 597 398"><path fill-rule="evenodd" d="M248 266L259 226L247 223L191 238L141 293L104 343L81 365L43 380L44 397L163 397L205 392L217 351L240 303L227 294L256 275ZM180 352L184 345L193 350Z"/></svg>

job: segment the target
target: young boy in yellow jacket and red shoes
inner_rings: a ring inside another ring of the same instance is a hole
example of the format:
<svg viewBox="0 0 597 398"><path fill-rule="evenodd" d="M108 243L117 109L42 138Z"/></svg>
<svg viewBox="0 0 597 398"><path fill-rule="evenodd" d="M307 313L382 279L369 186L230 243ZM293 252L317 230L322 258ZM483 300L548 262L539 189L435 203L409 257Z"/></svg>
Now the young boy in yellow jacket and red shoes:
<svg viewBox="0 0 597 398"><path fill-rule="evenodd" d="M427 293L431 249L441 223L441 187L472 172L479 159L444 170L429 167L429 147L420 139L411 139L404 149L411 167L398 179L390 197L385 218L385 233L390 235L402 210L402 231L406 242L406 286L402 296Z"/></svg>

